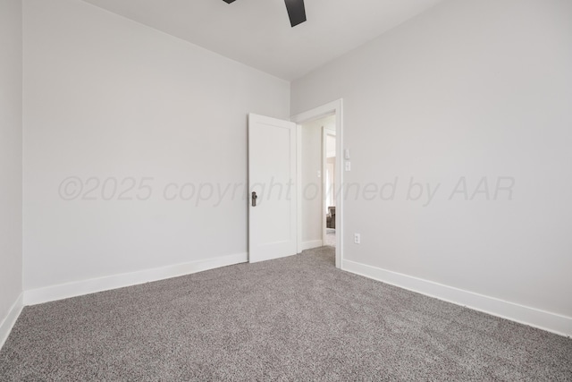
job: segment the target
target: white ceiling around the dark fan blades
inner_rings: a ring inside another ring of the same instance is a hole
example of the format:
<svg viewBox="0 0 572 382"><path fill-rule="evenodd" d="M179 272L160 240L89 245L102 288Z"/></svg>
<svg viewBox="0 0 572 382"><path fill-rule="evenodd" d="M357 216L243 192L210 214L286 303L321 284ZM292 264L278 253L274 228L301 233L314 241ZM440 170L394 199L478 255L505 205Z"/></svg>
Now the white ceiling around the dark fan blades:
<svg viewBox="0 0 572 382"><path fill-rule="evenodd" d="M291 81L442 0L306 0L295 28L283 0L84 1Z"/></svg>

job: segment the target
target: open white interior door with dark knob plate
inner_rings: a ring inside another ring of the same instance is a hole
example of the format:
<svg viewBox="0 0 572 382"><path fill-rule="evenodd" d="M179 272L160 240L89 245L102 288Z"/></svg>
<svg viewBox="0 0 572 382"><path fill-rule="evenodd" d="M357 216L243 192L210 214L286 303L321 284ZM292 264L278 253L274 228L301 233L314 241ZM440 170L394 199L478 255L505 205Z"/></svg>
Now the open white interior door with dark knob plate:
<svg viewBox="0 0 572 382"><path fill-rule="evenodd" d="M248 115L248 261L251 263L296 254L296 142L295 123Z"/></svg>

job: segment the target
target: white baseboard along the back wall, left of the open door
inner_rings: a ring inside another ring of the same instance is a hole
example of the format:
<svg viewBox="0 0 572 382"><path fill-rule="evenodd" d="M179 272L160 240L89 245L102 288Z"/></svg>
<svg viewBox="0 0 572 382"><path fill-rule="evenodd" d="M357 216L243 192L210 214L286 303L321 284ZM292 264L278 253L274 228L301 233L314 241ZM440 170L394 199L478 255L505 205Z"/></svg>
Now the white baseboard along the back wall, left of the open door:
<svg viewBox="0 0 572 382"><path fill-rule="evenodd" d="M24 291L24 305L36 305L49 301L63 300L89 293L109 291L125 286L145 284L217 267L226 267L248 261L248 253L237 253L214 259L204 259L167 267L157 267L122 275L92 278L67 284L57 284L44 288Z"/></svg>

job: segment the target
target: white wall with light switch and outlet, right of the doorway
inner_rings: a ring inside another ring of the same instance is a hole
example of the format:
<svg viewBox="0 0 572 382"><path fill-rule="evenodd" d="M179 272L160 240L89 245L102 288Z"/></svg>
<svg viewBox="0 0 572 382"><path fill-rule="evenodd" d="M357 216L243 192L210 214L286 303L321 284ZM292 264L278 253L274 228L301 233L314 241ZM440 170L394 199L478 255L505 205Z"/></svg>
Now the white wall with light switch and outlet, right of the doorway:
<svg viewBox="0 0 572 382"><path fill-rule="evenodd" d="M570 68L572 2L454 0L295 81L292 115L344 99L347 183L399 178L347 195L345 259L572 317Z"/></svg>

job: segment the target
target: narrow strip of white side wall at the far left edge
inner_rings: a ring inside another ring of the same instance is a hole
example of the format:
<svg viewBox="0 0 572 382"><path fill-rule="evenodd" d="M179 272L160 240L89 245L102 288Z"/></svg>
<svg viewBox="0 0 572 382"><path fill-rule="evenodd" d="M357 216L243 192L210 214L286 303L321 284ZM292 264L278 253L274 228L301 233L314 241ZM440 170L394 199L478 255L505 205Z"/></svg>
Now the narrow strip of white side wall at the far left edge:
<svg viewBox="0 0 572 382"><path fill-rule="evenodd" d="M0 346L22 291L21 1L0 2Z"/></svg>

